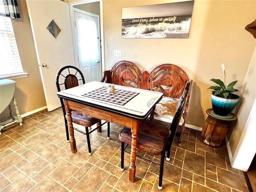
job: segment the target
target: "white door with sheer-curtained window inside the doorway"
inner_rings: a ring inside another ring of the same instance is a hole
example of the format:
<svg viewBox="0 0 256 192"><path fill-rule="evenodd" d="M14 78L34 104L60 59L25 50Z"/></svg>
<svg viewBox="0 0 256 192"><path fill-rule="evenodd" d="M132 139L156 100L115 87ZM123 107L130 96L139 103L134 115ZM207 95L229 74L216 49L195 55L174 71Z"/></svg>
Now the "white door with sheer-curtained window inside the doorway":
<svg viewBox="0 0 256 192"><path fill-rule="evenodd" d="M100 81L102 78L99 16L74 9L76 44L79 68L85 82Z"/></svg>

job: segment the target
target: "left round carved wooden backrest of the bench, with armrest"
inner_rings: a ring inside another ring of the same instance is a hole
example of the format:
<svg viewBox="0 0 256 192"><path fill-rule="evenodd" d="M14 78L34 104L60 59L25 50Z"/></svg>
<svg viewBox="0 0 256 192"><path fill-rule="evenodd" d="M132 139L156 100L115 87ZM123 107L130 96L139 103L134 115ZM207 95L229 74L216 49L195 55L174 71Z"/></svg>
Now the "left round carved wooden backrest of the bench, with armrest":
<svg viewBox="0 0 256 192"><path fill-rule="evenodd" d="M111 71L104 71L101 82L142 88L142 73L134 63L120 61L112 67Z"/></svg>

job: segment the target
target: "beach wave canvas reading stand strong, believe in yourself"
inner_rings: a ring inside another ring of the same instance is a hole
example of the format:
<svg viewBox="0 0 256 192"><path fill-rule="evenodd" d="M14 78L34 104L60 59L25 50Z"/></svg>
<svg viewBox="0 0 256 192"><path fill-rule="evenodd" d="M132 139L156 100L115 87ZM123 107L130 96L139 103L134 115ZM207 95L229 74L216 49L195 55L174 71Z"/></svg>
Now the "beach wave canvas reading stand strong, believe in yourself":
<svg viewBox="0 0 256 192"><path fill-rule="evenodd" d="M194 1L122 8L122 38L188 38Z"/></svg>

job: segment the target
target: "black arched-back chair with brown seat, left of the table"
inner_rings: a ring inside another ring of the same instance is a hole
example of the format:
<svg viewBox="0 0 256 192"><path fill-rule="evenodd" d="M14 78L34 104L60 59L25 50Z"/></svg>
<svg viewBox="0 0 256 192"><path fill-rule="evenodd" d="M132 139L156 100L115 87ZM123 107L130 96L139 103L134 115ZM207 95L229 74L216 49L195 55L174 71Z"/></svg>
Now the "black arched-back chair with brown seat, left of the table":
<svg viewBox="0 0 256 192"><path fill-rule="evenodd" d="M61 68L56 76L56 86L57 86L58 92L61 90L65 90L65 89L69 89L69 88L81 85L81 84L85 84L84 75L78 68L76 68L74 66L65 66L65 67ZM67 140L69 140L67 116L66 116L64 102L62 99L60 99L60 103L61 103L62 111L63 111L63 115L64 115L66 137L67 137ZM89 153L89 155L91 155L92 150L91 150L91 145L90 145L89 134L94 132L94 130L98 130L98 132L101 132L101 126L103 124L105 124L106 122L101 124L100 119L84 115L81 112L74 111L74 110L71 112L71 116L72 116L73 123L85 126L85 132L83 132L80 129L75 128L75 127L74 127L74 130L77 130L78 132L86 135L87 144L88 144L88 153ZM110 123L109 122L107 122L107 123L108 123L107 138L110 139ZM91 129L91 126L93 126L94 124L97 124L97 127L94 128L93 130L90 130L90 132L89 132L89 128Z"/></svg>

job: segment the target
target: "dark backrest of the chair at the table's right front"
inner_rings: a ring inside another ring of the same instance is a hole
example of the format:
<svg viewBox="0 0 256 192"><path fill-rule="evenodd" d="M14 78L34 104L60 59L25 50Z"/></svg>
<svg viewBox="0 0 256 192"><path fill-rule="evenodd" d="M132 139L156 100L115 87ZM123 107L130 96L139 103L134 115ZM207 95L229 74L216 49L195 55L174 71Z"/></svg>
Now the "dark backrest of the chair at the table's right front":
<svg viewBox="0 0 256 192"><path fill-rule="evenodd" d="M169 134L168 134L168 137L165 141L164 148L163 148L164 152L166 150L166 147L168 147L168 146L170 147L172 145L172 141L173 141L174 136L177 132L177 128L178 128L178 125L179 125L179 122L180 122L180 118L181 118L183 110L185 108L185 103L186 103L186 100L187 100L187 97L188 97L188 91L190 89L190 86L191 86L190 81L187 81L186 85L185 85L185 88L182 92L182 96L179 99L178 105L176 107L175 114L174 114L174 117L173 117L173 120L172 120L172 124L170 125Z"/></svg>

